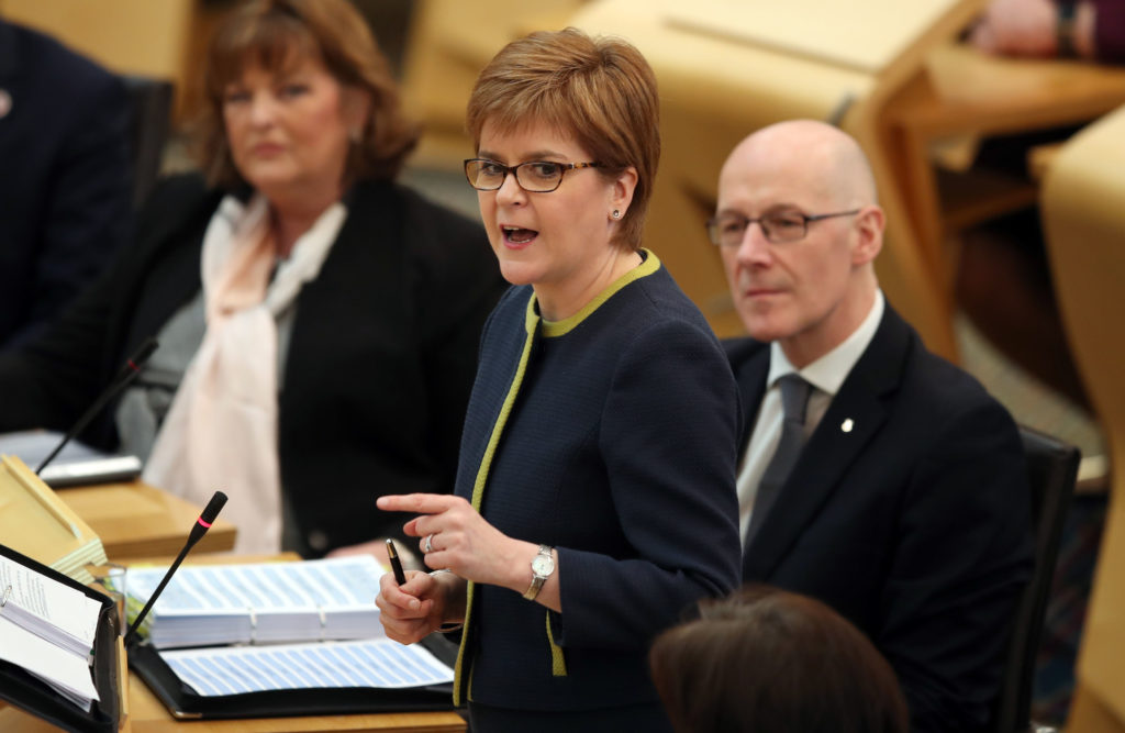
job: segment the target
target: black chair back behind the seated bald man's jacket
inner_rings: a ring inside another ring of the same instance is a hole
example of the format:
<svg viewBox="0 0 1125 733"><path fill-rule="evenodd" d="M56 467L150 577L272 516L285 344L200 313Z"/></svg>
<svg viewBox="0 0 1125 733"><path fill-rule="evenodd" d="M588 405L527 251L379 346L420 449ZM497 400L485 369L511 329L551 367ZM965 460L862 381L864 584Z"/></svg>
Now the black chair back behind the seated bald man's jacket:
<svg viewBox="0 0 1125 733"><path fill-rule="evenodd" d="M1011 627L1000 698L993 716L997 733L1024 733L1030 727L1035 656L1080 457L1074 446L1029 428L1020 427L1019 436L1027 456L1032 490L1035 572L1019 597Z"/></svg>

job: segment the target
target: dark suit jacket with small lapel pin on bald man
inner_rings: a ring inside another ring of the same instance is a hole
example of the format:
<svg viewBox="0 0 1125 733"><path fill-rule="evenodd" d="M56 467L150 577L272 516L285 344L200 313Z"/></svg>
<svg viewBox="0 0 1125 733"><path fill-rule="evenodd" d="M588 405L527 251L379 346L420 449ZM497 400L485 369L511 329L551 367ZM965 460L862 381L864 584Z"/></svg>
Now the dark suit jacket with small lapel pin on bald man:
<svg viewBox="0 0 1125 733"><path fill-rule="evenodd" d="M726 347L745 452L770 348ZM864 631L898 673L914 730L976 730L1030 576L1029 491L1008 412L888 305L745 548L742 580L819 598Z"/></svg>

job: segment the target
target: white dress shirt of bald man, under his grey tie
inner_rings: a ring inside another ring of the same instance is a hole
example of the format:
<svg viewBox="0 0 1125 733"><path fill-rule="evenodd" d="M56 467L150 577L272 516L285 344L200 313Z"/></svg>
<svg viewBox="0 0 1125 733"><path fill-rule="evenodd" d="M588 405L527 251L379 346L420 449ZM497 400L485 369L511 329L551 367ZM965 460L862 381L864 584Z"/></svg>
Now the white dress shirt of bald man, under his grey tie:
<svg viewBox="0 0 1125 733"><path fill-rule="evenodd" d="M781 405L781 387L777 381L786 374L796 372L809 384L812 391L809 395L809 406L806 409L804 437L808 438L817 429L820 419L828 411L828 405L839 392L844 379L852 367L860 360L863 352L875 336L879 322L883 319L885 301L882 290L875 290L875 302L860 327L839 346L824 355L803 369L795 369L781 346L774 341L770 345L770 374L766 376L766 393L758 408L754 421L754 431L742 456L742 465L738 470L738 521L739 535L746 540L746 528L750 525L754 513L754 501L758 494L762 474L770 465L777 441L781 439L781 423L784 417Z"/></svg>

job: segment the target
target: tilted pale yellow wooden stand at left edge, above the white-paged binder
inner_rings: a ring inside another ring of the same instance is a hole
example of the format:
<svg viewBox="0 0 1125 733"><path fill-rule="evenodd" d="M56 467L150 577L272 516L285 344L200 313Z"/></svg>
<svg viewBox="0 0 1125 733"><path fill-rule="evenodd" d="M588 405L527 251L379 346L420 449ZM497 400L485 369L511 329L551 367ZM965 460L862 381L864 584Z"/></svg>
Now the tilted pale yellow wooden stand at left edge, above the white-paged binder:
<svg viewBox="0 0 1125 733"><path fill-rule="evenodd" d="M106 564L101 538L30 468L0 457L0 537L16 552L90 583L87 565Z"/></svg>

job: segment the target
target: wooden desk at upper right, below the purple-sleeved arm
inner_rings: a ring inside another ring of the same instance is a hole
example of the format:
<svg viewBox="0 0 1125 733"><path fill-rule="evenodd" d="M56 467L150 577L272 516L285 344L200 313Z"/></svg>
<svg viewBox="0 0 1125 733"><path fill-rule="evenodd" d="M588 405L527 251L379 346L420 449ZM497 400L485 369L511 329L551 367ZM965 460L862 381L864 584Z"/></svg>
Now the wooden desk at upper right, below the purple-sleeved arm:
<svg viewBox="0 0 1125 733"><path fill-rule="evenodd" d="M945 239L963 226L1035 203L1033 186L958 179L944 191L930 145L955 135L996 135L1083 123L1125 102L1125 69L1078 61L998 59L947 44L933 50L880 114L892 185L935 286L948 292L954 260Z"/></svg>

